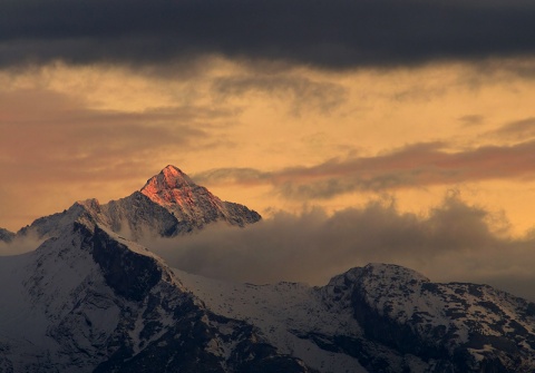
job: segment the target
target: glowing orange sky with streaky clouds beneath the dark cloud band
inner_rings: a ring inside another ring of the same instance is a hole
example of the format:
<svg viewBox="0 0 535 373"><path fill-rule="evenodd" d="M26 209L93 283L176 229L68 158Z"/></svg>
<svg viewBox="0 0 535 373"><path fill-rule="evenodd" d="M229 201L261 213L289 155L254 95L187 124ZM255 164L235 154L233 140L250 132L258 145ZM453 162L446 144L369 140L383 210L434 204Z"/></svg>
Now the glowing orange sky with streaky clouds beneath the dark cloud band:
<svg viewBox="0 0 535 373"><path fill-rule="evenodd" d="M167 164L261 214L447 190L535 225L528 60L332 72L222 57L173 73L110 65L0 71L0 227L140 188Z"/></svg>

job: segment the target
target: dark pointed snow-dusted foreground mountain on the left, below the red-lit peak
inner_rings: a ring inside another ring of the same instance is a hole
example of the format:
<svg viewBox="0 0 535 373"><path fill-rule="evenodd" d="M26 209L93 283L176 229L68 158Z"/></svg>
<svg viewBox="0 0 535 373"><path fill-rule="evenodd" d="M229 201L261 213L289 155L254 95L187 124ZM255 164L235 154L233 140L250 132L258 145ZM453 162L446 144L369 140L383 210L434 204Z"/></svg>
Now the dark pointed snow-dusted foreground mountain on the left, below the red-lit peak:
<svg viewBox="0 0 535 373"><path fill-rule="evenodd" d="M95 222L1 257L0 269L2 372L311 372Z"/></svg>

